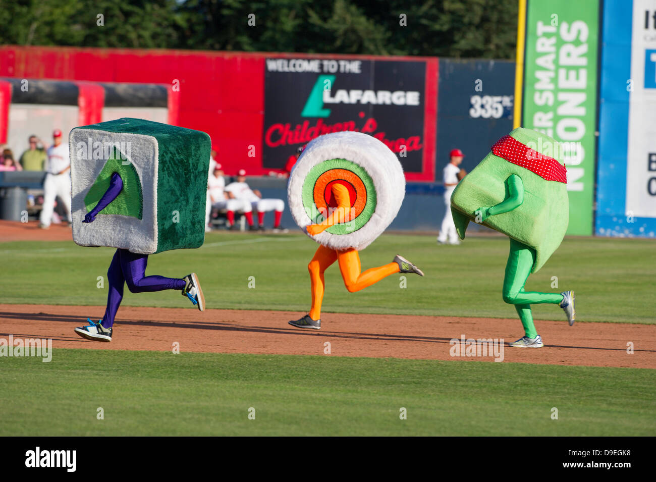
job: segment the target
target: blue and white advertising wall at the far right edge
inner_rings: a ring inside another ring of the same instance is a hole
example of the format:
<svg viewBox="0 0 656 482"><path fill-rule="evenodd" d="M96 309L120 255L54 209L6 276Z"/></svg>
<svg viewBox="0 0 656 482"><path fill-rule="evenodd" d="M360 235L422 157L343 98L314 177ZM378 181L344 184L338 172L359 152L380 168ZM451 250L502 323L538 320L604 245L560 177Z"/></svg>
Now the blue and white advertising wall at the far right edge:
<svg viewBox="0 0 656 482"><path fill-rule="evenodd" d="M605 0L595 233L656 237L656 0Z"/></svg>

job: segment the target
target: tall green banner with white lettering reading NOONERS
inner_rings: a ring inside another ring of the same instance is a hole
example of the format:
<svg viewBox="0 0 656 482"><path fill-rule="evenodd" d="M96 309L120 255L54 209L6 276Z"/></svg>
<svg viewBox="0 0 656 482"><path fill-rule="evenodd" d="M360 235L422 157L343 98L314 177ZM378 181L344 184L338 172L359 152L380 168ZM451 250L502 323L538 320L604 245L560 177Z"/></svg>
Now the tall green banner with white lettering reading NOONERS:
<svg viewBox="0 0 656 482"><path fill-rule="evenodd" d="M599 0L529 0L523 127L562 142L569 235L592 235Z"/></svg>

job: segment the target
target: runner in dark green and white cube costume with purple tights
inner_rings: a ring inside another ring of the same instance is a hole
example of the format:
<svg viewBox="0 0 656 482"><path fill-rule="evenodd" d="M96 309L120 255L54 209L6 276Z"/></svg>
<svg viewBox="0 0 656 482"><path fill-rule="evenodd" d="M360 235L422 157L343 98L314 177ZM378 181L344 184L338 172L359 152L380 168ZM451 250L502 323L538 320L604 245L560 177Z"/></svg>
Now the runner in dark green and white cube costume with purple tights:
<svg viewBox="0 0 656 482"><path fill-rule="evenodd" d="M195 273L146 276L148 255L197 248L205 241L210 138L143 119L76 127L71 153L73 241L116 248L107 272L104 317L75 329L88 340L112 341L114 317L131 292L179 290L199 310L205 298Z"/></svg>

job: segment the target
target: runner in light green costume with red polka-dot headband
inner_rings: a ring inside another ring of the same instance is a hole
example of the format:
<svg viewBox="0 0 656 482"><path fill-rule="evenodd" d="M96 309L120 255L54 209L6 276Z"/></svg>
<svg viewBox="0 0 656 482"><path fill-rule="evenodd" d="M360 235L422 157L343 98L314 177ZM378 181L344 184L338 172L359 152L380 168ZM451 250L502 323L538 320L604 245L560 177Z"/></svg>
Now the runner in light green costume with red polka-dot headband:
<svg viewBox="0 0 656 482"><path fill-rule="evenodd" d="M524 336L517 348L541 348L531 304L558 304L574 324L574 292L525 291L529 274L537 272L558 249L569 221L567 171L562 146L553 138L518 128L503 136L451 196L451 212L461 239L470 220L510 237L503 280L503 300L517 310Z"/></svg>

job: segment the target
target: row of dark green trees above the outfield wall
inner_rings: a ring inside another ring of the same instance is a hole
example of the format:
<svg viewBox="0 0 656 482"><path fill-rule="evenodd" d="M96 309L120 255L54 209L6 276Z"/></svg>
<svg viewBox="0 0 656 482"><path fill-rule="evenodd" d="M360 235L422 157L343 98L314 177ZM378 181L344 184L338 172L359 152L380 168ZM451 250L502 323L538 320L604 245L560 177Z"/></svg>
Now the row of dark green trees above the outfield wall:
<svg viewBox="0 0 656 482"><path fill-rule="evenodd" d="M0 0L0 42L513 58L517 8L516 0Z"/></svg>

